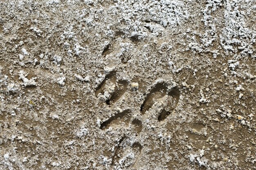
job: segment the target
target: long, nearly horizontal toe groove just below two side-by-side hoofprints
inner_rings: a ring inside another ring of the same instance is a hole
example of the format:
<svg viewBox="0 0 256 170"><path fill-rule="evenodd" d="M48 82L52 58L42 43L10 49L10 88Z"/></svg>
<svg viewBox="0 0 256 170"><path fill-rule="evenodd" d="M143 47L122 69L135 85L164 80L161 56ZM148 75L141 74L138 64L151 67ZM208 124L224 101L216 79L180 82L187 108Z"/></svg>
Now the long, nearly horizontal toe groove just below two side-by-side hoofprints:
<svg viewBox="0 0 256 170"><path fill-rule="evenodd" d="M124 110L123 112L117 113L115 116L110 117L108 120L104 121L100 129L105 129L110 127L112 124L118 124L121 121L127 123L130 119L130 110Z"/></svg>

